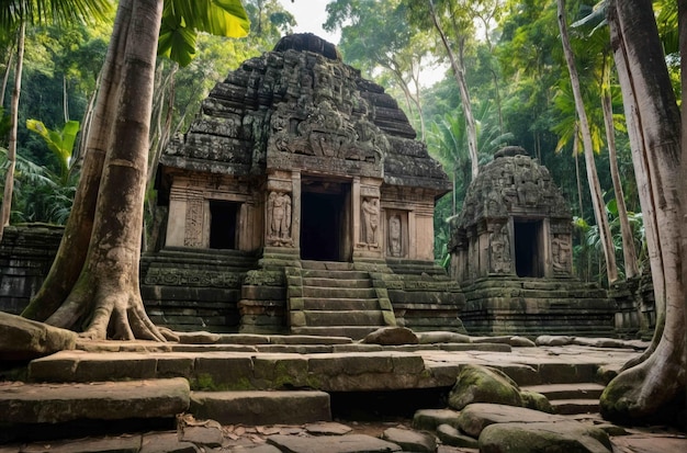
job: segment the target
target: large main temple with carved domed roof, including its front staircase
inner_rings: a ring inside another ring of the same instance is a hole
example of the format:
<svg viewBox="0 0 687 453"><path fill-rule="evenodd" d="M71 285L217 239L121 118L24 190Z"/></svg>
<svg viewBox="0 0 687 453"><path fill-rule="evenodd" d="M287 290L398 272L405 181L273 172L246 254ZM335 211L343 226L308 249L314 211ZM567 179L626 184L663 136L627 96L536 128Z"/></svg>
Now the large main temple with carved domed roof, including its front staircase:
<svg viewBox="0 0 687 453"><path fill-rule="evenodd" d="M458 285L433 264L446 173L396 101L312 34L217 83L157 188L164 244L142 271L158 324L206 328L199 314L223 305L217 330L462 328Z"/></svg>

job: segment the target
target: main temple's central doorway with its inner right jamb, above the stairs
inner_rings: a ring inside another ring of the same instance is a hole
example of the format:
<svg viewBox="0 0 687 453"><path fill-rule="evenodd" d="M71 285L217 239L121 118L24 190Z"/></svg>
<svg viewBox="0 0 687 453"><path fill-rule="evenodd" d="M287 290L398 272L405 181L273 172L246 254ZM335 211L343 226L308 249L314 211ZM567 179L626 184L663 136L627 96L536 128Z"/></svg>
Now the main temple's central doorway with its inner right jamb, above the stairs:
<svg viewBox="0 0 687 453"><path fill-rule="evenodd" d="M303 180L301 194L301 259L350 259L350 184Z"/></svg>

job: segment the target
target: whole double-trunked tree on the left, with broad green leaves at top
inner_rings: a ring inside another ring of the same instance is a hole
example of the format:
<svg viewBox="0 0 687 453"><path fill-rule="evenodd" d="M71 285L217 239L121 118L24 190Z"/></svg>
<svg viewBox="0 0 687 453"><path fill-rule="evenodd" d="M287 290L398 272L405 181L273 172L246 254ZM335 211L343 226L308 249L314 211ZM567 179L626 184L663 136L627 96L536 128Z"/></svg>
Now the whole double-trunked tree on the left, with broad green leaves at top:
<svg viewBox="0 0 687 453"><path fill-rule="evenodd" d="M165 339L138 287L158 49L184 63L196 31L240 36L249 27L239 0L162 7L162 0L119 3L72 212L50 272L23 313L88 338Z"/></svg>

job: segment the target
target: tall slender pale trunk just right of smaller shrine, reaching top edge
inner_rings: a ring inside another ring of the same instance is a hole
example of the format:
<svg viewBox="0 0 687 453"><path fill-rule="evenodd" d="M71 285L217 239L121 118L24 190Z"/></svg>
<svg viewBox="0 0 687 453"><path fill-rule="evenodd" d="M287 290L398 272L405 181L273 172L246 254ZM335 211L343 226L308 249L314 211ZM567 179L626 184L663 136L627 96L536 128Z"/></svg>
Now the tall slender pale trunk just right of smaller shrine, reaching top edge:
<svg viewBox="0 0 687 453"><path fill-rule="evenodd" d="M599 227L599 238L604 247L604 256L606 258L606 274L608 282L612 283L618 280L618 267L616 265L616 251L613 241L610 236L610 226L608 216L606 215L606 205L601 194L601 184L596 172L596 163L594 162L594 146L592 145L592 133L589 132L589 122L587 112L582 100L582 90L579 89L579 78L575 68L573 49L567 36L567 23L565 21L565 0L558 0L559 3L559 27L561 30L561 42L563 43L563 53L570 71L573 95L575 98L575 107L577 116L579 116L579 127L582 132L582 143L585 151L585 167L587 169L587 182L589 183L589 192L592 192L592 205L594 206L594 216Z"/></svg>

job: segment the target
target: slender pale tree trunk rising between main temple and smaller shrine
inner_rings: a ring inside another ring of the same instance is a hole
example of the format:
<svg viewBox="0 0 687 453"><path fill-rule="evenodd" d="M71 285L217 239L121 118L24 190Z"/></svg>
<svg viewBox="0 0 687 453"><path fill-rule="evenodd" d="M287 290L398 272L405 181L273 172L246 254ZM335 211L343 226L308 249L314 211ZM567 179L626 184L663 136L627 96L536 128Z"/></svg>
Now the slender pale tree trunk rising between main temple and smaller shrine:
<svg viewBox="0 0 687 453"><path fill-rule="evenodd" d="M457 55L457 53L453 52L451 44L449 43L449 38L446 35L443 27L441 26L441 22L439 21L439 16L437 15L437 10L435 8L435 2L432 0L429 1L429 9L432 23L435 24L435 29L437 29L437 32L441 37L443 48L449 56L449 61L451 61L451 69L453 70L453 76L455 77L455 82L458 83L458 89L461 93L461 107L463 110L463 115L465 116L465 133L468 134L468 151L470 155L471 174L472 180L474 180L480 172L480 157L477 156L477 126L475 124L475 116L472 113L470 91L468 90L468 80L465 80L463 43L461 42L461 44L459 45L460 49Z"/></svg>

